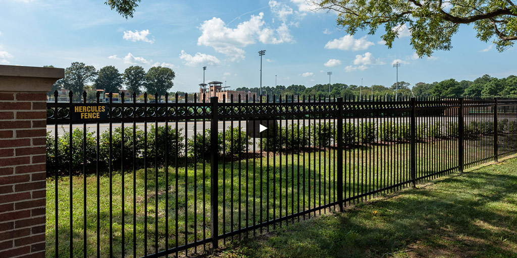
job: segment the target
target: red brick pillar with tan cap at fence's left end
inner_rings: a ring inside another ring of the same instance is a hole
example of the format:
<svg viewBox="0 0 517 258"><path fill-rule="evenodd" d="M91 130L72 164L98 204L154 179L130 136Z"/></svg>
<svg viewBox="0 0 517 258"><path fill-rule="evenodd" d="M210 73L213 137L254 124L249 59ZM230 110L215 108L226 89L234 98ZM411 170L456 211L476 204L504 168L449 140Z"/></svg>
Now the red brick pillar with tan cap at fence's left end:
<svg viewBox="0 0 517 258"><path fill-rule="evenodd" d="M63 76L0 65L0 257L45 256L46 93Z"/></svg>

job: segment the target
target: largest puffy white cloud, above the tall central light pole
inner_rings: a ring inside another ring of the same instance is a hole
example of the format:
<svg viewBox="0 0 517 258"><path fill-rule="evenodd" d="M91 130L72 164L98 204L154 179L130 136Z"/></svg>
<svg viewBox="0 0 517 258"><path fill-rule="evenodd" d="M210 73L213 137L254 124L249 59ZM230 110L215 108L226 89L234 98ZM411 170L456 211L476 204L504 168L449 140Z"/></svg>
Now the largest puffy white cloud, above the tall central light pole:
<svg viewBox="0 0 517 258"><path fill-rule="evenodd" d="M231 61L245 58L242 48L254 44L256 40L264 44L293 42L286 23L277 29L265 27L264 13L251 15L250 20L239 23L236 28L229 28L220 18L204 21L200 26L202 34L197 38L197 45L211 46L218 53L224 54Z"/></svg>

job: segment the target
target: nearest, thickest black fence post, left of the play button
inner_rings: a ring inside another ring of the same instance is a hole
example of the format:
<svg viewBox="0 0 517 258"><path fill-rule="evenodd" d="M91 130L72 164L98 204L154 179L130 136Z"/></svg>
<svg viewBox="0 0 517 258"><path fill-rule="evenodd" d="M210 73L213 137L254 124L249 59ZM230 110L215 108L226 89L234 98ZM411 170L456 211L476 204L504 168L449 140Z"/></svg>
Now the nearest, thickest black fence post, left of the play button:
<svg viewBox="0 0 517 258"><path fill-rule="evenodd" d="M212 104L212 119L210 120L210 232L212 236L212 247L218 248L218 226L219 226L219 153L217 151L219 144L217 142L218 136L218 99L217 96L210 97Z"/></svg>

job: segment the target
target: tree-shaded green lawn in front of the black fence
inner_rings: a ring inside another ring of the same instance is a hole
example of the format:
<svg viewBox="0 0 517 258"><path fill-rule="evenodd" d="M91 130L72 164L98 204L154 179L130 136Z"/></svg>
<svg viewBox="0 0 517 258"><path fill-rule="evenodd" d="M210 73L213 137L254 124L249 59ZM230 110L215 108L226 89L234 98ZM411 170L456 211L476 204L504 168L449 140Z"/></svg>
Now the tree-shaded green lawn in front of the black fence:
<svg viewBox="0 0 517 258"><path fill-rule="evenodd" d="M517 158L229 244L222 257L517 257Z"/></svg>

